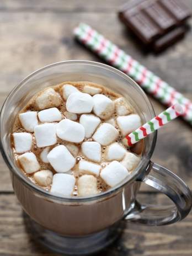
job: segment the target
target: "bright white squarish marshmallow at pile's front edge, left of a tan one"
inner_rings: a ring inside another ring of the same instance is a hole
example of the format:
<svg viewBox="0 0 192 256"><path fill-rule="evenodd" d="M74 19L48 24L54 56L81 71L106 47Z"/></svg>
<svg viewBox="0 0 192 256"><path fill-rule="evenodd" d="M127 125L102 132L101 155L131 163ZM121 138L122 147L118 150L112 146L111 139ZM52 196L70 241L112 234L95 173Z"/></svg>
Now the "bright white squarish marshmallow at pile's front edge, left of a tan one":
<svg viewBox="0 0 192 256"><path fill-rule="evenodd" d="M71 196L76 179L73 175L66 173L57 173L52 179L50 192L58 196Z"/></svg>

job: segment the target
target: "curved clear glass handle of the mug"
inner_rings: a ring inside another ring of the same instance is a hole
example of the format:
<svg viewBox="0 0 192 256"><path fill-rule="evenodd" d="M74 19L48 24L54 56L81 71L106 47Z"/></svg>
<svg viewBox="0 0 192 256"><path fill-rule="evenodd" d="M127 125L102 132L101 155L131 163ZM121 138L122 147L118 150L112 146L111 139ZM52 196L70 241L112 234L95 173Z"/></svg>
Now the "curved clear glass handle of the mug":
<svg viewBox="0 0 192 256"><path fill-rule="evenodd" d="M150 226L168 225L185 218L192 206L192 195L186 184L170 170L150 162L147 174L138 182L144 182L152 188L166 194L174 203L168 205L142 205L138 201L132 204L125 220Z"/></svg>

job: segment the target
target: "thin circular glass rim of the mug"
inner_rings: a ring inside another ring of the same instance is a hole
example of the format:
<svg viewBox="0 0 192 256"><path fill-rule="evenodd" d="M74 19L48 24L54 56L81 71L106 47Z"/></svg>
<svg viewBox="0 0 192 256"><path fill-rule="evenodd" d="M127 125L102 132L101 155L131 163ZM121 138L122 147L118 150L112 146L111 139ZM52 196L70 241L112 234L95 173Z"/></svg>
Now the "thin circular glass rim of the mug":
<svg viewBox="0 0 192 256"><path fill-rule="evenodd" d="M13 160L9 157L8 153L4 150L4 146L3 146L3 140L2 140L2 117L3 117L3 112L4 109L6 108L6 104L9 101L9 99L11 97L14 96L15 93L17 93L17 90L22 87L22 85L28 81L28 79L30 79L31 77L35 76L36 74L45 71L49 68L58 66L58 65L67 65L67 64L84 64L84 65L91 65L91 66L99 66L102 68L105 68L106 70L116 73L119 76L123 77L125 80L128 80L132 86L135 86L136 89L138 90L138 92L140 92L140 94L142 94L142 97L145 99L146 104L148 105L148 108L150 110L150 114L151 114L151 118L153 118L155 116L154 113L154 109L153 106L150 102L150 100L148 99L146 93L143 91L143 89L138 86L138 84L129 76L127 76L125 73L123 73L122 71L111 67L109 65L106 65L104 63L100 63L100 62L95 62L95 61L86 61L86 60L69 60L69 61L61 61L61 62L55 62L55 63L51 63L50 65L44 66L42 68L39 68L39 70L34 71L33 73L29 74L29 76L26 76L21 82L19 82L17 84L17 86L15 86L10 93L8 94L6 100L3 103L2 109L1 109L1 113L0 113L0 123L1 123L1 128L0 128L0 135L1 135L1 140L0 140L0 150L3 156L4 161L6 162L9 170L15 174L17 176L17 178L20 179L20 181L22 183L24 183L25 186L27 186L29 189L32 189L35 193L38 193L38 195L40 196L44 196L47 199L49 198L52 201L62 201L62 202L86 202L86 201L93 201L93 200L97 200L97 199L102 199L105 198L108 195L114 194L116 191L120 190L123 186L125 186L127 183L133 182L134 180L136 180L138 178L138 176L144 172L146 169L146 167L148 166L148 163L150 161L150 158L153 154L154 151L154 147L156 145L156 140L157 140L157 131L153 132L150 136L152 137L151 140L151 145L150 145L150 150L148 150L146 157L142 157L140 163L138 164L138 166L135 168L134 172L131 173L130 178L128 178L126 180L126 182L119 184L117 186L115 186L114 188L111 188L105 192L102 192L100 194L97 195L91 195L91 196L82 196L82 197L63 197L63 196L57 196L57 195L53 195L51 194L49 191L46 191L45 189L42 189L40 186L32 183L30 181L30 179L28 177L25 177L25 175L23 175L23 173L20 171L20 169L15 166L15 164L13 163Z"/></svg>

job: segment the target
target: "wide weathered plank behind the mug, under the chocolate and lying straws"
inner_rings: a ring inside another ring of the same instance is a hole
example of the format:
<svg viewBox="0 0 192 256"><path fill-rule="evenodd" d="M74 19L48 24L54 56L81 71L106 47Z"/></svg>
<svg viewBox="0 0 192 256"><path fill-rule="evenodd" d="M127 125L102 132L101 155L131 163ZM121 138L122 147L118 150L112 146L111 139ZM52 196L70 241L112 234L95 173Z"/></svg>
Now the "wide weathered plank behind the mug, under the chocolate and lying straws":
<svg viewBox="0 0 192 256"><path fill-rule="evenodd" d="M102 22L98 22L99 20ZM0 92L9 92L26 75L52 62L74 59L101 61L73 40L72 31L79 22L92 25L173 87L183 92L192 90L191 31L183 41L154 57L145 55L138 49L115 12L86 15L1 13L0 22ZM192 19L190 23L192 24Z"/></svg>

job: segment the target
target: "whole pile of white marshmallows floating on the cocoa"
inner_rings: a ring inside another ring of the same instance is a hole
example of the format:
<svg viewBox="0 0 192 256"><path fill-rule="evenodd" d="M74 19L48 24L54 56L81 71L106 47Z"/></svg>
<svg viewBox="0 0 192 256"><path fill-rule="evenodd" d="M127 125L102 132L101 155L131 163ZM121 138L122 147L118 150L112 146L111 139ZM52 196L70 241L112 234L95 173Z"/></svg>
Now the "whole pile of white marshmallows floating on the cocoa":
<svg viewBox="0 0 192 256"><path fill-rule="evenodd" d="M60 196L71 196L76 179L69 174L76 164L79 148L73 143L81 143L82 153L90 161L81 159L78 163L82 175L77 181L78 195L87 196L99 193L97 178L100 177L109 186L122 182L129 172L134 169L140 158L127 152L115 140L119 131L123 136L141 126L140 116L131 114L132 108L124 98L111 100L102 93L101 88L84 86L83 93L65 84L62 87L62 97L66 100L65 113L57 107L62 104L61 95L53 88L47 88L35 99L35 104L41 111L26 111L19 114L23 128L28 132L13 133L15 152L19 154L20 166L28 174L34 173L34 179L41 186L51 186L51 193ZM116 122L111 115L118 115ZM88 114L92 113L92 114ZM81 114L79 122L77 114ZM34 134L31 134L34 133ZM50 163L57 174L51 170L40 170L40 164L33 152L30 152L33 135L36 146L43 148L40 153L41 161ZM57 137L71 142L66 146L57 144ZM83 140L90 138L90 141ZM49 146L56 145L50 150ZM102 169L102 147L106 147L105 161L110 162Z"/></svg>

